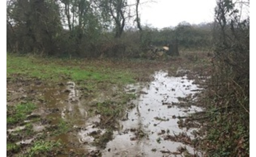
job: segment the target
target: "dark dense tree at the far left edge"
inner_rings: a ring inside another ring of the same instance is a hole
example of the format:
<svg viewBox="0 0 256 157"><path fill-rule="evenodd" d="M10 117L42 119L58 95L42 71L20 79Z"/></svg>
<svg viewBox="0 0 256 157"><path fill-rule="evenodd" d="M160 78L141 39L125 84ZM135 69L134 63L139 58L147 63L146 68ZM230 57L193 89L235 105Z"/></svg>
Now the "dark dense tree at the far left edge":
<svg viewBox="0 0 256 157"><path fill-rule="evenodd" d="M57 49L61 24L55 1L9 0L7 23L9 51L51 55Z"/></svg>

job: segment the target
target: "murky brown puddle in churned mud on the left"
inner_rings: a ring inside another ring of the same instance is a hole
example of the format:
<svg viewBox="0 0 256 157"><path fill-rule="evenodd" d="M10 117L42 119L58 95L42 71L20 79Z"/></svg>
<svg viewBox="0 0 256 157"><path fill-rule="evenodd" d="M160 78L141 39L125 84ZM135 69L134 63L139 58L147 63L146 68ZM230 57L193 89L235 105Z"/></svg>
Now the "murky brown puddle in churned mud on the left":
<svg viewBox="0 0 256 157"><path fill-rule="evenodd" d="M25 120L23 124L31 123L32 130L35 132L30 135L29 138L23 138L21 141L17 141L16 145L28 145L34 141L37 141L42 135L46 135L47 139L58 141L59 139L66 145L64 149L66 152L75 150L79 143L77 138L74 138L72 133L63 133L58 136L51 136L56 129L58 129L58 123L61 119L65 122L75 126L84 126L87 118L87 111L83 106L80 91L77 89L74 82L67 82L66 84L59 83L56 85L50 84L28 84L20 87L16 90L13 87L9 87L13 90L15 102L18 100L20 103L26 102L26 99L31 99L37 104L35 109L30 115L27 115L28 120ZM30 94L33 94L32 96ZM20 100L15 97L16 95L22 95ZM16 100L17 99L17 100ZM14 101L12 99L12 101ZM40 118L40 121L31 122L31 118ZM25 129L25 126L16 126L13 129L8 129L8 134L15 135L17 131ZM48 136L50 135L50 136ZM78 148L77 152L86 152L85 149Z"/></svg>

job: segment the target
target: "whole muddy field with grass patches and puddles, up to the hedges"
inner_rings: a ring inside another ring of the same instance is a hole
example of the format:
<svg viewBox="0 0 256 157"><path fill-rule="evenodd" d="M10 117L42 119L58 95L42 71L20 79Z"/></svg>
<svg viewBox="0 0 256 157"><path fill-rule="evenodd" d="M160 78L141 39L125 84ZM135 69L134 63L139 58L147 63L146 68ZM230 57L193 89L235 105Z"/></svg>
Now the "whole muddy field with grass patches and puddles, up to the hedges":
<svg viewBox="0 0 256 157"><path fill-rule="evenodd" d="M203 156L196 149L202 124L190 120L204 110L196 102L209 57L186 54L56 60L53 73L43 67L49 60L8 56L7 156Z"/></svg>

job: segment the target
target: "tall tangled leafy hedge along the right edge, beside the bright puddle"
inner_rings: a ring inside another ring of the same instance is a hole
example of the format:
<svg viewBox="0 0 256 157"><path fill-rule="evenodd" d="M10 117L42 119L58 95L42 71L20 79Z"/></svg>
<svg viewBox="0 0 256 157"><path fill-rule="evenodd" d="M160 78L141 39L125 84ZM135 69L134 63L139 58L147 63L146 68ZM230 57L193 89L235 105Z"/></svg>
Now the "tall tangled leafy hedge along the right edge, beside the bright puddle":
<svg viewBox="0 0 256 157"><path fill-rule="evenodd" d="M240 20L236 4L218 0L215 9L215 71L205 99L208 108L217 112L209 113L202 143L211 156L249 156L250 23L249 17Z"/></svg>

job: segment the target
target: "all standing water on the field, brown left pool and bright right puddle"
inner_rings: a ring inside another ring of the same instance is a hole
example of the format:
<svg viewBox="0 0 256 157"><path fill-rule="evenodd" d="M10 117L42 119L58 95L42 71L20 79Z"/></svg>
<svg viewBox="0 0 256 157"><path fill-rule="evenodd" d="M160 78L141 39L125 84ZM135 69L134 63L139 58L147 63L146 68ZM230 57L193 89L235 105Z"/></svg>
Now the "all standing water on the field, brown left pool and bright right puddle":
<svg viewBox="0 0 256 157"><path fill-rule="evenodd" d="M67 145L66 151L90 152L100 150L104 157L145 156L156 157L170 155L178 147L185 147L190 153L196 153L189 145L166 140L168 135L191 134L194 129L179 128L178 116L185 117L201 108L182 102L180 98L192 97L199 90L198 85L187 76L170 77L167 72L158 71L153 75L154 80L145 84L131 84L125 87L127 93L134 93L138 97L132 100L134 108L118 125L118 131L113 132L113 140L106 144L105 149L95 147L95 135L101 136L106 130L97 128L95 124L101 122L101 115L88 115L88 104L96 100L84 100L79 88L74 82L59 84L57 87L47 88L31 85L30 90L41 90L41 107L32 115L46 116L51 119L51 125L62 118L73 125L75 132L54 137ZM113 88L114 90L114 88ZM196 97L194 98L196 99ZM179 101L180 100L180 101ZM179 103L186 105L179 106ZM43 130L43 124L34 124L34 130ZM17 129L23 129L19 127ZM14 130L8 130L13 132ZM40 131L38 131L40 132ZM33 138L34 139L34 138ZM33 139L20 141L31 142ZM167 153L166 153L167 152ZM200 155L200 154L199 154Z"/></svg>

